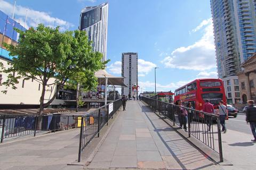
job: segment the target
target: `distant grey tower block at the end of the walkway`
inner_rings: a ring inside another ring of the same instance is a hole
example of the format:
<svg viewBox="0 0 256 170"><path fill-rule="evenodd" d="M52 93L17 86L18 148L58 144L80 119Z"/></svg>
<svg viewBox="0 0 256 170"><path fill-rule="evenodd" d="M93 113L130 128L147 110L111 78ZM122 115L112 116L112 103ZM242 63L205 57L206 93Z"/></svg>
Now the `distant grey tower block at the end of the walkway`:
<svg viewBox="0 0 256 170"><path fill-rule="evenodd" d="M138 86L138 53L122 53L122 77L127 86L122 88L122 95L137 96L138 91L132 87Z"/></svg>

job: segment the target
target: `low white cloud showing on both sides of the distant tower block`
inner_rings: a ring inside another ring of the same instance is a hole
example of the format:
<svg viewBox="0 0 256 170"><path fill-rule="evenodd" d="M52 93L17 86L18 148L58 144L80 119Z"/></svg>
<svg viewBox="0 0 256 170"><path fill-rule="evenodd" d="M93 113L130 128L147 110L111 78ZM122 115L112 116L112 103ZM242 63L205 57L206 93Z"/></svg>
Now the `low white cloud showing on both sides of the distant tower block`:
<svg viewBox="0 0 256 170"><path fill-rule="evenodd" d="M152 69L156 67L156 64L148 62L142 59L138 60L138 77L145 77ZM122 62L116 61L108 67L108 70L114 74L121 74L122 72Z"/></svg>

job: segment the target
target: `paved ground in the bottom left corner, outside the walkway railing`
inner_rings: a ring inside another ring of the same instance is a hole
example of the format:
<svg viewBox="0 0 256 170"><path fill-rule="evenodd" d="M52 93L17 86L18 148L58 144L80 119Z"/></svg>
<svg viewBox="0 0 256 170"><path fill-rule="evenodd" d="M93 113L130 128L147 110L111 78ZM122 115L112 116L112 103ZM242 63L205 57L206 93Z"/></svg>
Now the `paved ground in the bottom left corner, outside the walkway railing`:
<svg viewBox="0 0 256 170"><path fill-rule="evenodd" d="M83 169L77 163L79 129L0 145L1 170Z"/></svg>

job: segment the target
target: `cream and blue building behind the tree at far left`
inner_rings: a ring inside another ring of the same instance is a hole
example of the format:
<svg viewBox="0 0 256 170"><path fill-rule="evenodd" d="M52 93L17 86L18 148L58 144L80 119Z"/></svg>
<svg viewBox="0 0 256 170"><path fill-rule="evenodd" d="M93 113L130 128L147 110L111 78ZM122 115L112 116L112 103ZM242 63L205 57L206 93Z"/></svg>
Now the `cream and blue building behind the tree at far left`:
<svg viewBox="0 0 256 170"><path fill-rule="evenodd" d="M11 62L13 56L9 56L9 51L4 47L4 43L18 45L19 33L13 28L18 28L25 31L26 29L22 27L18 22L12 20L5 13L0 11L0 62L3 63L4 67L9 67L8 62ZM15 57L15 56L14 56ZM16 73L13 75L17 76ZM0 72L0 84L4 82L8 74ZM55 79L50 79L49 83L53 83ZM20 79L19 83L16 85L17 89L12 89L9 87L7 89L7 94L0 92L0 107L5 108L5 106L10 105L39 105L39 99L42 94L42 84L37 81L30 79ZM51 97L56 92L56 85L51 85L46 87L45 91L45 103L51 99ZM0 86L0 91L5 90L4 86ZM67 91L67 90L66 90ZM57 99L55 99L52 105L65 105L65 101L60 99L60 95L63 94L63 90L59 92Z"/></svg>

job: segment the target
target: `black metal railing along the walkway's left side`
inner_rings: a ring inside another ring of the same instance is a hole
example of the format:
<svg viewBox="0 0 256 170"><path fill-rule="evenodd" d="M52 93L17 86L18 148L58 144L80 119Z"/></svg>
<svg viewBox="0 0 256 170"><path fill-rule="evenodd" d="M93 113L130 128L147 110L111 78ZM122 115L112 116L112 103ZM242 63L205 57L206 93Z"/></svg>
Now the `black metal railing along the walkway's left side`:
<svg viewBox="0 0 256 170"><path fill-rule="evenodd" d="M99 137L100 130L104 125L108 125L109 118L113 118L114 114L122 106L122 99L117 99L107 105L95 109L94 111L82 115L80 117L80 138L78 150L78 162L81 160L81 153L85 147L97 135Z"/></svg>

